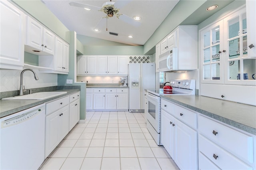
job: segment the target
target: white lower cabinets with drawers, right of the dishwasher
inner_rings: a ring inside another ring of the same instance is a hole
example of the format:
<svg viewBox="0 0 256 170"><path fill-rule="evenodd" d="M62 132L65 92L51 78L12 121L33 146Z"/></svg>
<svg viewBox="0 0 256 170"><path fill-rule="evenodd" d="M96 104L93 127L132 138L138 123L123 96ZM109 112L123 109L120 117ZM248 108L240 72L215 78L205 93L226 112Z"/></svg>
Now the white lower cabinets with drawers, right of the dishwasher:
<svg viewBox="0 0 256 170"><path fill-rule="evenodd" d="M80 119L80 92L46 103L46 158Z"/></svg>

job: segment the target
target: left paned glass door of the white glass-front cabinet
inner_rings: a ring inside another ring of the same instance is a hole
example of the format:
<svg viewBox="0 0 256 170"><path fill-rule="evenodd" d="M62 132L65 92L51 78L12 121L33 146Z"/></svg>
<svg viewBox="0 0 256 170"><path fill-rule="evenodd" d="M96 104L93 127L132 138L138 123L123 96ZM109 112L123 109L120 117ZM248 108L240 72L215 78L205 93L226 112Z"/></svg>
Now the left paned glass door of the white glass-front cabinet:
<svg viewBox="0 0 256 170"><path fill-rule="evenodd" d="M210 28L201 32L201 52L203 55L202 63L202 81L214 80L220 82L223 78L221 77L220 71L220 44L222 31L221 22L214 24ZM217 83L216 82L216 83Z"/></svg>

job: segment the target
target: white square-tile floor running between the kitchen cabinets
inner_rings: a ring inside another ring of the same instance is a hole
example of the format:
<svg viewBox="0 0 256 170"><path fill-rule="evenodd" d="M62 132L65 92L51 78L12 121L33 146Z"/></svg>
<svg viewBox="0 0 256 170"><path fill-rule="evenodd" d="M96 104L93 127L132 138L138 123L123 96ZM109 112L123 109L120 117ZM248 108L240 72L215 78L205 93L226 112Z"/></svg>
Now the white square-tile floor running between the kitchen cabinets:
<svg viewBox="0 0 256 170"><path fill-rule="evenodd" d="M146 128L144 113L91 111L40 170L178 170Z"/></svg>

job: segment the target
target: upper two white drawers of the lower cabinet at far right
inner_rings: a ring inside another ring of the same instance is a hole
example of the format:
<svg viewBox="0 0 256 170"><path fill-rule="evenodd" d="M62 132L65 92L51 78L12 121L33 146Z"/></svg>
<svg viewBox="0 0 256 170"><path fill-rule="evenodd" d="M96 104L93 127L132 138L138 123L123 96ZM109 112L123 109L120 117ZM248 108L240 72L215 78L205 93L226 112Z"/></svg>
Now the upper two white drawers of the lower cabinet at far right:
<svg viewBox="0 0 256 170"><path fill-rule="evenodd" d="M220 169L255 169L255 139L224 123L198 115L198 152ZM198 160L199 167L204 166Z"/></svg>

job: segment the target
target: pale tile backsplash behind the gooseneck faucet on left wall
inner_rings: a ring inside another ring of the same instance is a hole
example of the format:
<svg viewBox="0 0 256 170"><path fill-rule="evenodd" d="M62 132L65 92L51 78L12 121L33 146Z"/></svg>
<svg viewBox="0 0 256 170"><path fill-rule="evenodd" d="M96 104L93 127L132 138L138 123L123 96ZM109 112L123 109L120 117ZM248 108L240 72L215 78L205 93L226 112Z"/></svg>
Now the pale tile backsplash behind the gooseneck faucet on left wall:
<svg viewBox="0 0 256 170"><path fill-rule="evenodd" d="M33 70L38 75L39 80L36 81L34 79L32 71L25 71L23 74L23 85L25 89L58 85L58 74L39 73L38 69ZM19 90L21 71L22 70L0 70L0 92Z"/></svg>

